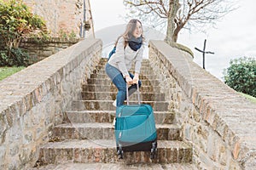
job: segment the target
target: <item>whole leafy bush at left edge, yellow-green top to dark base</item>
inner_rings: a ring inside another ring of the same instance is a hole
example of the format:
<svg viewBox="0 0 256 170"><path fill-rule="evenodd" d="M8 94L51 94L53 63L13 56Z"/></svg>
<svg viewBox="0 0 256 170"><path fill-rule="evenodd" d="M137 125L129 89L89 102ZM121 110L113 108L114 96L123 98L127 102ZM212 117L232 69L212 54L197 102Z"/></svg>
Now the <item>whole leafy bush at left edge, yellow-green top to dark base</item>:
<svg viewBox="0 0 256 170"><path fill-rule="evenodd" d="M0 0L0 65L26 65L27 54L19 48L20 41L35 33L47 34L44 27L44 20L21 0Z"/></svg>

